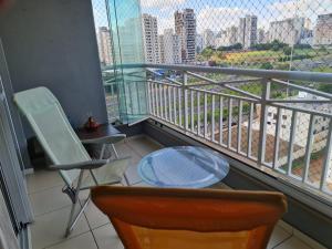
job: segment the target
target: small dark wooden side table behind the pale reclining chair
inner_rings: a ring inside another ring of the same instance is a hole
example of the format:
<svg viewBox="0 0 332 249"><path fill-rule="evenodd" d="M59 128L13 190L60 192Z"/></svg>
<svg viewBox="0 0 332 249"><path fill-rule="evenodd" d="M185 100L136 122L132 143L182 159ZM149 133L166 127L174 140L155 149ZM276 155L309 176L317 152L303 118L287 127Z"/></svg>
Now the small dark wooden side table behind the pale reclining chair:
<svg viewBox="0 0 332 249"><path fill-rule="evenodd" d="M76 129L76 134L80 137L81 141L86 139L95 139L104 136L112 136L116 134L121 134L121 132L115 128L112 124L101 124L94 132L87 132L85 128L79 128ZM93 158L98 158L102 151L102 145L84 145L87 153ZM104 156L111 157L111 149L106 148L104 152Z"/></svg>

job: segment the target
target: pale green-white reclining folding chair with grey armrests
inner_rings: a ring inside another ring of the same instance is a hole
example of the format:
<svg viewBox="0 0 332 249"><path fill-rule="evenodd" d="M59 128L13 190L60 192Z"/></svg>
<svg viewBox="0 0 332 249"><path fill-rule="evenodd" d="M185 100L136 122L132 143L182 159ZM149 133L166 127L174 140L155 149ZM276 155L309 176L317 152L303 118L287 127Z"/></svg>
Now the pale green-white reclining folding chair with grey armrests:
<svg viewBox="0 0 332 249"><path fill-rule="evenodd" d="M72 200L72 209L65 230L69 236L89 204L86 198L75 214L80 190L96 185L121 183L128 166L128 158L118 158L114 143L125 138L124 134L89 139L85 143L103 144L101 157L92 159L70 125L59 101L45 87L37 87L14 94L14 102L29 121L38 141L51 159L51 169L59 170L65 186L63 193ZM103 159L106 145L112 145L114 159Z"/></svg>

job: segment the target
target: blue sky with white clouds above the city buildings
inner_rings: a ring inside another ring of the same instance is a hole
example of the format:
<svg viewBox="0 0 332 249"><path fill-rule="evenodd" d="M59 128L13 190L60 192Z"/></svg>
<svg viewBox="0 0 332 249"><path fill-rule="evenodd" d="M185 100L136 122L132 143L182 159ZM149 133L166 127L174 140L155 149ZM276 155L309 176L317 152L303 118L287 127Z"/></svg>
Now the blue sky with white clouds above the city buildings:
<svg viewBox="0 0 332 249"><path fill-rule="evenodd" d="M92 1L96 27L107 25L105 0ZM198 33L205 29L218 32L238 25L239 18L245 14L256 14L258 28L268 30L271 21L295 15L309 18L313 27L318 14L332 13L332 0L141 0L141 7L142 13L157 17L159 33L167 28L174 29L174 12L185 8L195 10Z"/></svg>

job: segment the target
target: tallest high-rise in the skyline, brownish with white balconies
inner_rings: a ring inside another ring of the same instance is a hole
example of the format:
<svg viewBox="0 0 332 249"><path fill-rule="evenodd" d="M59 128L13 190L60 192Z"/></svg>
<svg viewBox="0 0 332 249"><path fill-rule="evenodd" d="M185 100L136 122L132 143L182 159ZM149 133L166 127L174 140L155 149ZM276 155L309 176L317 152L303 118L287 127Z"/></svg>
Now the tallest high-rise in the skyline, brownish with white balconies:
<svg viewBox="0 0 332 249"><path fill-rule="evenodd" d="M175 33L180 39L181 62L193 63L196 59L196 15L193 9L176 11Z"/></svg>

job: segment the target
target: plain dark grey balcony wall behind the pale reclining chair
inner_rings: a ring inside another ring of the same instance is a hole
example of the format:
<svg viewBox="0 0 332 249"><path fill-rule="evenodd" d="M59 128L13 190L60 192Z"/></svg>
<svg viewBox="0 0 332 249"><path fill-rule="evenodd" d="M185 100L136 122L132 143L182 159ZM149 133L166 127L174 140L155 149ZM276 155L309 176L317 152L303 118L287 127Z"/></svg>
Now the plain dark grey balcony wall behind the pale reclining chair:
<svg viewBox="0 0 332 249"><path fill-rule="evenodd" d="M91 1L15 0L0 12L0 38L14 92L44 85L74 126L106 122Z"/></svg>

